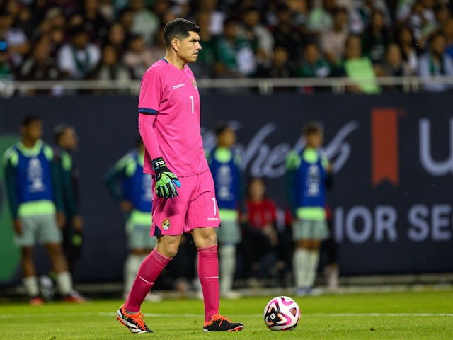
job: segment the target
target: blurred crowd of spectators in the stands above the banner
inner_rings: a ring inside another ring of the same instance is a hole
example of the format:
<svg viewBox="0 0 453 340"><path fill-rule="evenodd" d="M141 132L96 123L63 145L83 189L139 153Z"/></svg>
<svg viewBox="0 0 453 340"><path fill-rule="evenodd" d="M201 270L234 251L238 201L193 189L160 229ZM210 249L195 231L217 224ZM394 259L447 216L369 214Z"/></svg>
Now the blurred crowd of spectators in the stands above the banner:
<svg viewBox="0 0 453 340"><path fill-rule="evenodd" d="M141 79L164 25L195 21L198 79L453 76L453 1L0 0L0 79ZM432 81L427 91L451 86ZM310 91L310 89L306 89Z"/></svg>

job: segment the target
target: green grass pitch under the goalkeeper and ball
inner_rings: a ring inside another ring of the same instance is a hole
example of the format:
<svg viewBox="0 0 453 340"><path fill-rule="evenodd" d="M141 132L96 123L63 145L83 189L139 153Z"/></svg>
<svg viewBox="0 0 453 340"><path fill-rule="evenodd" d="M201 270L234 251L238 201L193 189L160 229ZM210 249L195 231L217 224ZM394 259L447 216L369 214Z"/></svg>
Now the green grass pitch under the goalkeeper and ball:
<svg viewBox="0 0 453 340"><path fill-rule="evenodd" d="M131 334L115 320L120 300L82 305L53 302L32 307L0 304L0 340L200 340L200 339L453 339L453 290L299 297L302 310L293 331L270 331L263 309L271 296L221 300L221 312L245 329L203 333L200 300L145 302L142 312L154 334Z"/></svg>

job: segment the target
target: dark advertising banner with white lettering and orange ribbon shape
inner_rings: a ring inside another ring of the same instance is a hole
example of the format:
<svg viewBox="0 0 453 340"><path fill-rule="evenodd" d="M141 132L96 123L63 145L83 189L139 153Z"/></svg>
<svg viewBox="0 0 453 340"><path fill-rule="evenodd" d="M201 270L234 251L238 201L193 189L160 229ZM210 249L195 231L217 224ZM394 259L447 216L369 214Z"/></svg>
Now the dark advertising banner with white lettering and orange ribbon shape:
<svg viewBox="0 0 453 340"><path fill-rule="evenodd" d="M303 146L304 123L323 124L324 151L335 171L328 203L343 274L453 271L450 94L233 96L202 92L201 97L205 147L214 145L210 130L214 123L233 123L246 173L265 177L269 196L282 209L287 205L286 154ZM79 276L86 281L121 280L124 223L102 176L134 145L137 98L1 101L0 149L17 137L21 119L28 114L43 118L46 140L52 140L52 127L57 123L69 123L78 131L80 148L75 160L81 172L86 224ZM0 204L0 239L2 244L11 243L4 192ZM0 268L0 283L8 282L7 278Z"/></svg>

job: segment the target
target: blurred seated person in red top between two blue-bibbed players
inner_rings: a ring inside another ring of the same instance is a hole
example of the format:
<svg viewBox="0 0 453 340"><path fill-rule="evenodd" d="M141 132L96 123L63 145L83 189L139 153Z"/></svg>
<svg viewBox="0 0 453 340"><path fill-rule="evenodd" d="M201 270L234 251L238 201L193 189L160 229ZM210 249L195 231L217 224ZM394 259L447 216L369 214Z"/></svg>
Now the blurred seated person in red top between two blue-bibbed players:
<svg viewBox="0 0 453 340"><path fill-rule="evenodd" d="M248 222L243 224L243 252L249 283L256 278L270 278L275 275L276 262L277 208L266 196L263 179L253 178L248 182L246 214Z"/></svg>

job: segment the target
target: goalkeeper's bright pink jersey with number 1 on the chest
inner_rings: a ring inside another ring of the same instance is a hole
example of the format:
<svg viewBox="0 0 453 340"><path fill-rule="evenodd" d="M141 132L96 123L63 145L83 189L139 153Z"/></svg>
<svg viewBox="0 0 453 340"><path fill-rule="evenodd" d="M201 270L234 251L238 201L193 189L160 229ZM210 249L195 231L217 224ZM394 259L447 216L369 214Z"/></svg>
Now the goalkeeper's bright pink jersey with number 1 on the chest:
<svg viewBox="0 0 453 340"><path fill-rule="evenodd" d="M190 68L178 69L164 59L142 78L139 113L154 115L154 135L161 154L145 153L144 172L153 174L151 159L164 157L176 176L209 169L200 131L200 94ZM151 128L151 127L150 127ZM144 140L144 145L149 141Z"/></svg>

